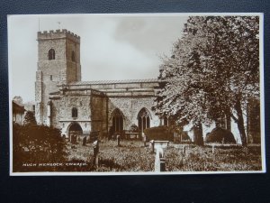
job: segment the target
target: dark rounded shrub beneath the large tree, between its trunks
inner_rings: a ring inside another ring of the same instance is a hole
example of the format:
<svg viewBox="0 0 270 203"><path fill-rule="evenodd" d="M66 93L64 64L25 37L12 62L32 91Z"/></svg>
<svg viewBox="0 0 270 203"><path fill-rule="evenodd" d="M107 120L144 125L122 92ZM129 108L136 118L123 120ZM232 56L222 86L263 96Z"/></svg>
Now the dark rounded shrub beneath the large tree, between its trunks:
<svg viewBox="0 0 270 203"><path fill-rule="evenodd" d="M224 128L216 127L206 135L206 143L236 143L233 134Z"/></svg>

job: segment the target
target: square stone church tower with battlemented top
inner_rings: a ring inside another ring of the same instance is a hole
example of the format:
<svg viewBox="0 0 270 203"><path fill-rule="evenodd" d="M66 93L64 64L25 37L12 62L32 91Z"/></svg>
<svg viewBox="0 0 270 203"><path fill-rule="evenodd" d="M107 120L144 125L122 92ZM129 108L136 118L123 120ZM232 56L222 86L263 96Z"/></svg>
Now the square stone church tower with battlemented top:
<svg viewBox="0 0 270 203"><path fill-rule="evenodd" d="M81 81L80 37L66 29L38 32L38 69L35 112L38 124L49 124L49 93L59 86Z"/></svg>

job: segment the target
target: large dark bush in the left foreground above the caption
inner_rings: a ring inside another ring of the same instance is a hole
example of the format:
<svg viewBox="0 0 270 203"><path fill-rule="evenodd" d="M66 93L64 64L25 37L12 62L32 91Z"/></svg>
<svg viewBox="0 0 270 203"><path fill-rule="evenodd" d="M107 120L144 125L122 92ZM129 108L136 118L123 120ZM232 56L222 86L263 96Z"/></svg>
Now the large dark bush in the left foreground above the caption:
<svg viewBox="0 0 270 203"><path fill-rule="evenodd" d="M62 161L65 143L60 130L44 125L17 125L13 128L14 171L23 163Z"/></svg>

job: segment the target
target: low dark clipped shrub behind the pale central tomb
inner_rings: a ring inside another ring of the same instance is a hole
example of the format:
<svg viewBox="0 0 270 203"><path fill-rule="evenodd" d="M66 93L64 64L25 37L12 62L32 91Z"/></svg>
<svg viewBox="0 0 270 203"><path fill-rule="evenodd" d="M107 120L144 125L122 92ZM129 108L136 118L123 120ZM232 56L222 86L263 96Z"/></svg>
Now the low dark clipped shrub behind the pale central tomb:
<svg viewBox="0 0 270 203"><path fill-rule="evenodd" d="M160 141L174 141L174 133L169 127L160 125L157 127L151 127L144 130L144 134L148 140L160 140Z"/></svg>

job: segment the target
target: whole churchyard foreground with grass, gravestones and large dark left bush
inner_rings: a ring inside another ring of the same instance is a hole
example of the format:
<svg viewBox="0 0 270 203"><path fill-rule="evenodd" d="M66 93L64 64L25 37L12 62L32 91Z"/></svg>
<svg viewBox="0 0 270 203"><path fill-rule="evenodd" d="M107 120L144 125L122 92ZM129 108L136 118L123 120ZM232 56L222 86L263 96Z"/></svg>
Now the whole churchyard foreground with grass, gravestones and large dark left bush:
<svg viewBox="0 0 270 203"><path fill-rule="evenodd" d="M261 171L260 144L138 138L68 141L44 125L14 125L14 171L163 172Z"/></svg>

